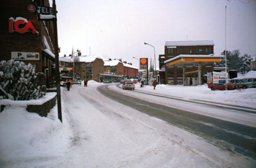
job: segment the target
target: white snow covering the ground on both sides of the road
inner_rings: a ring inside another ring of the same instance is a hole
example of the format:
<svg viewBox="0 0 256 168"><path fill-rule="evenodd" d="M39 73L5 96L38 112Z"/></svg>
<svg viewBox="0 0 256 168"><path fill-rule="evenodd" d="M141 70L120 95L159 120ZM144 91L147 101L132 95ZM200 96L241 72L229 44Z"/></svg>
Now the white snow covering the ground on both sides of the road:
<svg viewBox="0 0 256 168"><path fill-rule="evenodd" d="M56 106L47 118L24 107L6 107L0 113L0 167L256 165L252 158L217 148L201 137L100 95L96 88L101 85L108 86L89 81L87 88L61 88L63 123ZM256 88L211 91L205 85L157 85L156 90L139 86L136 89L152 93L256 108ZM109 87L120 89L115 84ZM256 121L255 115L251 118Z"/></svg>

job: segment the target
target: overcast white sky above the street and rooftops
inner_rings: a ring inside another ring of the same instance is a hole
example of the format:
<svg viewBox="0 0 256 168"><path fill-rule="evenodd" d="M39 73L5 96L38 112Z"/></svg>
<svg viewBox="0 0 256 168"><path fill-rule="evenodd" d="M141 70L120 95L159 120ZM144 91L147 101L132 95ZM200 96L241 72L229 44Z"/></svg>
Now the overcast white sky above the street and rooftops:
<svg viewBox="0 0 256 168"><path fill-rule="evenodd" d="M51 0L50 0L51 2ZM214 54L256 54L256 1L246 0L56 0L60 56L81 50L102 59L156 61L167 41L214 40ZM91 50L90 50L91 49ZM158 66L158 61L157 61Z"/></svg>

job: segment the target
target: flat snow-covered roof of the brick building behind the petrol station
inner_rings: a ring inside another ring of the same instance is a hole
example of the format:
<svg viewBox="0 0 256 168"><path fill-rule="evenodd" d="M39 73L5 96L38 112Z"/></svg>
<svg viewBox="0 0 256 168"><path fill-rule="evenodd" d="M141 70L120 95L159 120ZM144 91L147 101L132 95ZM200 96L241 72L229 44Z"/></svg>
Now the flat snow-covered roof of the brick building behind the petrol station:
<svg viewBox="0 0 256 168"><path fill-rule="evenodd" d="M164 46L196 46L196 45L214 45L214 42L213 40L171 41L171 42L165 42Z"/></svg>

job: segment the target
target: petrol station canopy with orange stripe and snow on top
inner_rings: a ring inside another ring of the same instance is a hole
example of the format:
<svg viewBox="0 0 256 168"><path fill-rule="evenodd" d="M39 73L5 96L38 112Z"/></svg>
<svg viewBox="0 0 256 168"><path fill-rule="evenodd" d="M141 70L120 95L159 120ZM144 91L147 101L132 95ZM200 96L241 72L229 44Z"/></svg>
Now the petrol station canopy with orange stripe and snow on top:
<svg viewBox="0 0 256 168"><path fill-rule="evenodd" d="M166 66L198 66L199 63L208 64L220 62L224 55L179 55L164 61Z"/></svg>

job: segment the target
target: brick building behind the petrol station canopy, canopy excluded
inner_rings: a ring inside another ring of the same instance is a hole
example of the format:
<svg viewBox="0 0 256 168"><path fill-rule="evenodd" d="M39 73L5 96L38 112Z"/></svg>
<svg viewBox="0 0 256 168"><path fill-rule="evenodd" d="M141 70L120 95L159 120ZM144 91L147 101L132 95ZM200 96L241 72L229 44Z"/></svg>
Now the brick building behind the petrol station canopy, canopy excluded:
<svg viewBox="0 0 256 168"><path fill-rule="evenodd" d="M164 62L168 59L175 58L181 54L196 56L196 55L210 55L214 54L214 42L212 40L199 41L172 41L166 42L164 45L164 56L159 55L159 66L163 70L161 81L165 84L184 84L184 70L186 72L186 79L193 80L193 85L198 81L198 66L195 64L186 66L166 66ZM184 69L185 68L185 69ZM201 78L207 72L213 72L213 63L205 63L201 67ZM164 72L164 73L163 73ZM204 80L201 80L205 82Z"/></svg>

